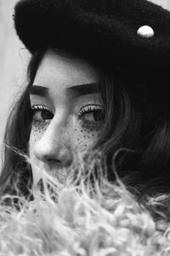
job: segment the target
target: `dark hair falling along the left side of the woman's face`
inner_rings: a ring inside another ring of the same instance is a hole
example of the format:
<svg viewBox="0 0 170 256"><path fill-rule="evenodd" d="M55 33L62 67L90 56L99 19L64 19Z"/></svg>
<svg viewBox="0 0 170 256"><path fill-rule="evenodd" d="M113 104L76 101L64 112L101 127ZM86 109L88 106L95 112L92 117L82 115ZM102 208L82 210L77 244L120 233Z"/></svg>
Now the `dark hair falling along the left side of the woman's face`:
<svg viewBox="0 0 170 256"><path fill-rule="evenodd" d="M31 132L31 106L29 90L46 49L32 55L27 69L28 84L8 117L3 139L3 166L0 177L0 195L30 195L32 183L31 166L25 154Z"/></svg>

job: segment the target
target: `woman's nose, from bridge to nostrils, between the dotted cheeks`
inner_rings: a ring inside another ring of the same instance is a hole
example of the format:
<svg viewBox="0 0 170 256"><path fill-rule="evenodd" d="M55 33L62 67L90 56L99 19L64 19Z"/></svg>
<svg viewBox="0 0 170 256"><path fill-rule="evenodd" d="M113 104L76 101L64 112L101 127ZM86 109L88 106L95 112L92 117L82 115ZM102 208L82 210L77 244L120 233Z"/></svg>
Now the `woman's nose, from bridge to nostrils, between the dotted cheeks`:
<svg viewBox="0 0 170 256"><path fill-rule="evenodd" d="M69 125L52 119L42 137L35 143L33 154L49 167L70 166L73 160Z"/></svg>

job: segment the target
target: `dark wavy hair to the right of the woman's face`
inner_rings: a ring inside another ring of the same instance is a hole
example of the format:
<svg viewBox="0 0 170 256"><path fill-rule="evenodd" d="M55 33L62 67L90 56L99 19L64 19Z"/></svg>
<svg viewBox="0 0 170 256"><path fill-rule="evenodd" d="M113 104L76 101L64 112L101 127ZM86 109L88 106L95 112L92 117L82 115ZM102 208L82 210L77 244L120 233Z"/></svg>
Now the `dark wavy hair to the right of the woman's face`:
<svg viewBox="0 0 170 256"><path fill-rule="evenodd" d="M140 198L169 193L169 118L156 113L147 86L135 76L115 70L101 78L107 117L99 143L107 154L108 178L114 178L114 160L119 177Z"/></svg>

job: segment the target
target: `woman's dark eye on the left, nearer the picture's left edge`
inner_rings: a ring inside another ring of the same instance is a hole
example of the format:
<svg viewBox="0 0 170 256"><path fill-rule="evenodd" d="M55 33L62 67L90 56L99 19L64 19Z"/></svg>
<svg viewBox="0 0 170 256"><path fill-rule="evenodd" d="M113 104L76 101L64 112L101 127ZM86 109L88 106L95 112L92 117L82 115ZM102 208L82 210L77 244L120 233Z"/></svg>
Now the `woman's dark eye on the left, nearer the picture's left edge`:
<svg viewBox="0 0 170 256"><path fill-rule="evenodd" d="M35 105L31 107L32 119L36 122L50 120L54 118L54 114L45 106Z"/></svg>

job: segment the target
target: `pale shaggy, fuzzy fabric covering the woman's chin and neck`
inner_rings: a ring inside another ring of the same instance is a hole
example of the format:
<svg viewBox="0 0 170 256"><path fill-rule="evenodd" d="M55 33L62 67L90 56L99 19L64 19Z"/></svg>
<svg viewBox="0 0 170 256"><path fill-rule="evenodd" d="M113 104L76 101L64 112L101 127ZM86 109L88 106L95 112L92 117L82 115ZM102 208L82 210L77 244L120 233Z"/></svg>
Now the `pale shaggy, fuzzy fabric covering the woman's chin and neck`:
<svg viewBox="0 0 170 256"><path fill-rule="evenodd" d="M43 193L32 189L33 201L18 198L20 211L3 204L8 195L1 199L0 256L170 254L169 223L154 221L120 181L103 178L92 188L83 181L62 185L48 177L43 185Z"/></svg>

